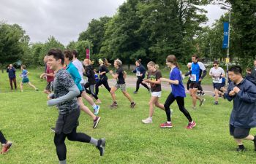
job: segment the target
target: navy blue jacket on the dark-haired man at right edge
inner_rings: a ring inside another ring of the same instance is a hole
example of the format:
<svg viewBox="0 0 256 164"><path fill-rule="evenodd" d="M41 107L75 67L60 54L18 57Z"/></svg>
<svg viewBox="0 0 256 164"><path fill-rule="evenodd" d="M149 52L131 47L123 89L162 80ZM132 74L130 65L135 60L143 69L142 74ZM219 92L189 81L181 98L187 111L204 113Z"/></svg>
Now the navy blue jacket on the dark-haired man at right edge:
<svg viewBox="0 0 256 164"><path fill-rule="evenodd" d="M228 95L233 87L239 87L240 91L234 96ZM228 101L233 100L233 110L230 115L230 125L238 128L256 127L256 85L243 79L238 85L231 82L225 93Z"/></svg>

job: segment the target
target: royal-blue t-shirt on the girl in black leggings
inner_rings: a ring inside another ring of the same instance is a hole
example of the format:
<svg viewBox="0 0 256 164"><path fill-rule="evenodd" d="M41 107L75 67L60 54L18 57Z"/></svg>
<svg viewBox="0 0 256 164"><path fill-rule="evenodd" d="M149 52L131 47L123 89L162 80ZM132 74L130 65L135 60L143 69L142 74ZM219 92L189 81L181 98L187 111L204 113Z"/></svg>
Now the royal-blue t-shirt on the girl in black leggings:
<svg viewBox="0 0 256 164"><path fill-rule="evenodd" d="M185 88L182 83L181 71L177 67L170 71L170 80L178 80L178 85L170 85L172 87L174 97L186 97Z"/></svg>

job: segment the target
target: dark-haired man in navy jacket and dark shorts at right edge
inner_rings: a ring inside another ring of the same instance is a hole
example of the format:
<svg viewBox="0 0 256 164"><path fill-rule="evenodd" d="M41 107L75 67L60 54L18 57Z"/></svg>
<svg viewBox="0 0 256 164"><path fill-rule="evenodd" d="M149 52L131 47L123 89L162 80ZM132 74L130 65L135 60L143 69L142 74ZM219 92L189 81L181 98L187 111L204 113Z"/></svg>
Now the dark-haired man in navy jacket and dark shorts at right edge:
<svg viewBox="0 0 256 164"><path fill-rule="evenodd" d="M249 134L251 128L256 127L256 86L242 77L240 66L232 66L228 70L228 77L232 81L227 88L225 98L233 100L233 110L230 115L230 135L238 144L237 151L245 149L242 140L251 140L255 144L256 137Z"/></svg>

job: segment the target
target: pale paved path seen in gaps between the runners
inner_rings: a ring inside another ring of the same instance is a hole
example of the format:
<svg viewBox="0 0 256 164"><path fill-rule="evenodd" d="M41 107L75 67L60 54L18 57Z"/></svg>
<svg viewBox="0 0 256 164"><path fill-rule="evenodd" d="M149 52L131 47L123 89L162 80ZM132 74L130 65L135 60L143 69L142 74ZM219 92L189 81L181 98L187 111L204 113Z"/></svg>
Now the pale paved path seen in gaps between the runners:
<svg viewBox="0 0 256 164"><path fill-rule="evenodd" d="M137 77L127 76L127 78L125 79L125 82L127 83L127 87L136 87ZM116 84L116 79L108 79L108 83L110 87L112 87L113 85ZM187 79L185 79L185 81L183 82L184 87L187 87L186 83L187 83ZM140 87L143 87L143 86L140 85ZM214 94L214 88L212 87L212 85L202 85L202 87L206 95ZM166 82L162 82L162 89L170 90L170 85L168 85Z"/></svg>

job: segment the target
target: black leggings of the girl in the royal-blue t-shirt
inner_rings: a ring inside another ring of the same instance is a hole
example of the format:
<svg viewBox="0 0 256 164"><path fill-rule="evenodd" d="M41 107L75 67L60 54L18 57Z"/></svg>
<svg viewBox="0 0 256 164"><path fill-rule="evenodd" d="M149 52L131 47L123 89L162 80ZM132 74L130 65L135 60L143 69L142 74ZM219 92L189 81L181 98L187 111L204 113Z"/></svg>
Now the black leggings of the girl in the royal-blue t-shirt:
<svg viewBox="0 0 256 164"><path fill-rule="evenodd" d="M177 101L178 104L178 109L187 117L187 120L189 120L189 122L192 122L192 118L189 114L189 112L187 111L187 109L185 109L184 106L184 98L182 97L174 97L173 93L170 93L170 95L168 95L166 101L165 101L165 112L166 112L166 116L167 116L167 121L170 121L170 104L173 104L173 101Z"/></svg>

